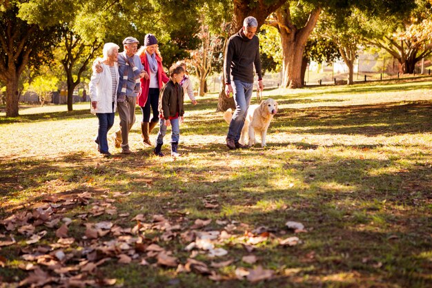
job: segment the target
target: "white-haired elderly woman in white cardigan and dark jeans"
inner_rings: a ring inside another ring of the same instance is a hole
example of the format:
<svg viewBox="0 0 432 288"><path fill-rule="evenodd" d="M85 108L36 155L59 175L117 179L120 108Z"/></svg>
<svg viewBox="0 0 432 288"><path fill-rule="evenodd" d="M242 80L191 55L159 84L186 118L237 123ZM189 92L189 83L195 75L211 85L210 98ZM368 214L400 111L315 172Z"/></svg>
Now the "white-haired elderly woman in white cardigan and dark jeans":
<svg viewBox="0 0 432 288"><path fill-rule="evenodd" d="M97 150L104 156L111 156L108 151L108 131L114 124L117 109L117 88L119 87L119 65L117 57L119 46L114 43L104 45L104 57L96 61L103 68L101 73L93 72L90 79L91 110L99 119L99 128L95 142Z"/></svg>

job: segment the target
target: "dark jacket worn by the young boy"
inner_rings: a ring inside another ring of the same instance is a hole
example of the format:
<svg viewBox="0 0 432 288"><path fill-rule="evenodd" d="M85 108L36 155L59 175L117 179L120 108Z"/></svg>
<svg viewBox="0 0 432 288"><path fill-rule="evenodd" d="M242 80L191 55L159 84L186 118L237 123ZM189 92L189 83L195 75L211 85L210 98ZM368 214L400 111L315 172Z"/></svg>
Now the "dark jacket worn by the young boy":
<svg viewBox="0 0 432 288"><path fill-rule="evenodd" d="M175 117L177 113L179 117L184 115L183 88L180 84L174 84L173 80L170 80L162 87L159 94L158 111L166 120L169 117Z"/></svg>

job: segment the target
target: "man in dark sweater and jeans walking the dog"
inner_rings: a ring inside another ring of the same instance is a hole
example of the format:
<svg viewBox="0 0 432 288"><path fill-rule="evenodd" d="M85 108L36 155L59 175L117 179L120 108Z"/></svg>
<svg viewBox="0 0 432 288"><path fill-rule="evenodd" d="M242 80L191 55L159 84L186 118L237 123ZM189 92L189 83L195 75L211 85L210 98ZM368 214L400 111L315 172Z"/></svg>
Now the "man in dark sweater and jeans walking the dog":
<svg viewBox="0 0 432 288"><path fill-rule="evenodd" d="M258 76L258 89L262 90L261 61L259 60L259 39L255 35L258 22L252 16L246 17L243 27L231 36L226 45L224 77L226 97L234 95L235 112L228 128L226 146L230 149L244 148L239 144L244 120L251 104L253 78ZM234 85L233 85L234 84Z"/></svg>

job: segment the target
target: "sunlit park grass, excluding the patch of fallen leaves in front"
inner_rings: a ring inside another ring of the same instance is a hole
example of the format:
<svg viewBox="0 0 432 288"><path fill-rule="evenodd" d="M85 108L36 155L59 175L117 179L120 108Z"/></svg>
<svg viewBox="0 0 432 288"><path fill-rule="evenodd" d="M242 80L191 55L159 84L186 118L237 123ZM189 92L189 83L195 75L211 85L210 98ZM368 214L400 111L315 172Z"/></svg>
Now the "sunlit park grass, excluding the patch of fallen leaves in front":
<svg viewBox="0 0 432 288"><path fill-rule="evenodd" d="M113 205L130 216L101 215L90 222L133 227L130 219L142 213L149 221L155 214L171 220L181 214L188 227L197 219L211 219L207 230L223 229L216 220L234 223L237 230L222 247L235 261L215 269L230 280L213 282L198 273L117 265L115 260L100 268L124 287L249 287L237 280L235 269L256 265L275 271L273 280L257 287L430 287L431 85L429 79L266 90L264 97L279 102L268 146L242 151L226 148L228 124L215 112L217 95L198 97L197 106L186 103L179 144L183 156L176 161L144 148L138 124L130 133L132 155L121 155L110 143L114 157L99 157L93 142L97 118L88 113L88 103L74 104L71 113L66 106L26 108L17 119L0 116L0 215L44 203L48 195L88 191L93 196L89 205L64 212L74 219L70 231L77 238L85 227L76 216L115 193L128 193L113 198ZM118 123L116 115L113 129ZM167 136L163 151L169 149ZM206 208L209 199L217 205ZM288 220L302 222L307 232L286 229ZM254 251L233 243L257 227L273 235ZM55 238L52 232L44 243ZM291 236L302 244L278 246L276 238ZM22 247L25 239L17 236ZM161 244L181 262L189 257L177 238ZM249 253L259 258L256 265L242 261ZM8 259L0 270L3 281L26 276L17 269L22 262L18 247L2 247L0 256ZM227 258L197 256L208 265Z"/></svg>

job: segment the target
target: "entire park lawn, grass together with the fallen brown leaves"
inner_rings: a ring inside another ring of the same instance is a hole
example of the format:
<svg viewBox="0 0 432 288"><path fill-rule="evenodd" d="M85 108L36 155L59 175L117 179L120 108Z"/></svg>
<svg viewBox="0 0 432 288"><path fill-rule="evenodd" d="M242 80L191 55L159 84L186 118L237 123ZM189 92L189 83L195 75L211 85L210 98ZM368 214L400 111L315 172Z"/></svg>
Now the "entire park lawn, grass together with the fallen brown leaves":
<svg viewBox="0 0 432 288"><path fill-rule="evenodd" d="M240 151L217 95L199 97L176 161L144 148L138 123L132 155L99 157L88 104L0 117L0 287L432 287L431 86L265 91L268 146ZM203 231L228 253L186 251Z"/></svg>

